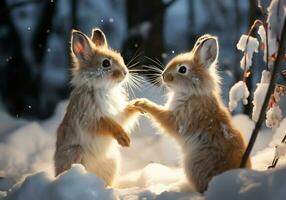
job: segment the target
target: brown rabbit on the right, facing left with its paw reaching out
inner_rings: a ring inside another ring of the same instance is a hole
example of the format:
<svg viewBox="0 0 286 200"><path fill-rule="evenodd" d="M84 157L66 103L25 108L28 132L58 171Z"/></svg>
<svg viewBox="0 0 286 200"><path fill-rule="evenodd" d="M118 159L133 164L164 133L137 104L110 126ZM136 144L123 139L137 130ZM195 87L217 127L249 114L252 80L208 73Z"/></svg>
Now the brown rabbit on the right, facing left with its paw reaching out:
<svg viewBox="0 0 286 200"><path fill-rule="evenodd" d="M147 99L133 102L178 141L187 179L199 192L213 176L238 168L246 148L219 96L217 57L216 37L200 37L191 52L177 55L162 73L170 90L165 106Z"/></svg>

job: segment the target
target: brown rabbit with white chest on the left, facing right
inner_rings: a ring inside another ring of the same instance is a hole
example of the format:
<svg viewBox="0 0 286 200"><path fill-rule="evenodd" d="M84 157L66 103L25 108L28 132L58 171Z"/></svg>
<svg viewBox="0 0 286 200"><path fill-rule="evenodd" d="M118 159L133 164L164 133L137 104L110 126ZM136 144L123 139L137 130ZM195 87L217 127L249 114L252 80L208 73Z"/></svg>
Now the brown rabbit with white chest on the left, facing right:
<svg viewBox="0 0 286 200"><path fill-rule="evenodd" d="M57 130L55 174L81 163L111 185L118 172L119 152L114 140L129 146L123 127L131 125L136 109L127 105L123 83L128 69L121 55L107 46L100 29L89 39L72 32L74 87L65 117Z"/></svg>

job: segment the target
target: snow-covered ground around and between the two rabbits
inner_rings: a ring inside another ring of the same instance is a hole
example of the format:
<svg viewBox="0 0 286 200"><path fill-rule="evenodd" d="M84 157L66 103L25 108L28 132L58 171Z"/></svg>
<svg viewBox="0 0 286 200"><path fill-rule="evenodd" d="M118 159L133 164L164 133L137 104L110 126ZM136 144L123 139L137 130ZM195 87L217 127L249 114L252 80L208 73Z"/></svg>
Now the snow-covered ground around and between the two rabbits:
<svg viewBox="0 0 286 200"><path fill-rule="evenodd" d="M148 92L147 92L148 91ZM164 101L156 88L136 91L157 103ZM275 145L286 130L286 120L275 131L262 130L252 152L253 170L237 169L215 177L204 194L184 191L180 149L147 119L132 134L130 148L121 148L121 173L114 188L105 188L82 165L59 177L53 173L55 132L66 108L62 102L52 118L28 122L0 112L0 198L3 199L283 199L286 196L286 159L271 164ZM245 115L233 117L249 139L254 122ZM10 189L10 190L9 190ZM8 191L9 190L9 191Z"/></svg>

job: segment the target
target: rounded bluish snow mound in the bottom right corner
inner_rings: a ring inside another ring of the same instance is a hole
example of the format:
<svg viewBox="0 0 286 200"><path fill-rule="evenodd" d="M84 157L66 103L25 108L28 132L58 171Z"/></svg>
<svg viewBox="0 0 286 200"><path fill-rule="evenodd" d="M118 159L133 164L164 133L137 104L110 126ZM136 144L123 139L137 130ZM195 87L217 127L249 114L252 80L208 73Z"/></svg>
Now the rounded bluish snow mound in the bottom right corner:
<svg viewBox="0 0 286 200"><path fill-rule="evenodd" d="M231 170L210 182L205 197L208 200L282 200L286 195L285 178L285 168L266 172Z"/></svg>

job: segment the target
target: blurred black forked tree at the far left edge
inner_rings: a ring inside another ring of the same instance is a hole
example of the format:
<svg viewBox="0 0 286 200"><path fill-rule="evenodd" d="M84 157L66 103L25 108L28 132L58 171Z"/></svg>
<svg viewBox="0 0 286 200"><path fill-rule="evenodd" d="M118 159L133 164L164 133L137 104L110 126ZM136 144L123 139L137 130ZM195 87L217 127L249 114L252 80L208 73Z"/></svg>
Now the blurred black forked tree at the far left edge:
<svg viewBox="0 0 286 200"><path fill-rule="evenodd" d="M30 1L35 3L39 1ZM43 2L43 1L42 1ZM28 1L25 4L29 3ZM7 110L14 116L36 116L46 118L52 114L53 106L45 99L42 93L42 62L44 59L48 32L52 28L52 19L55 11L55 2L43 2L42 14L38 19L32 39L33 63L28 62L23 55L23 44L20 33L13 23L11 12L17 6L8 6L6 1L0 2L0 28L6 30L1 35L1 50L7 55L7 62L1 63L1 95ZM4 12L5 11L5 12ZM47 30L49 30L47 32Z"/></svg>

